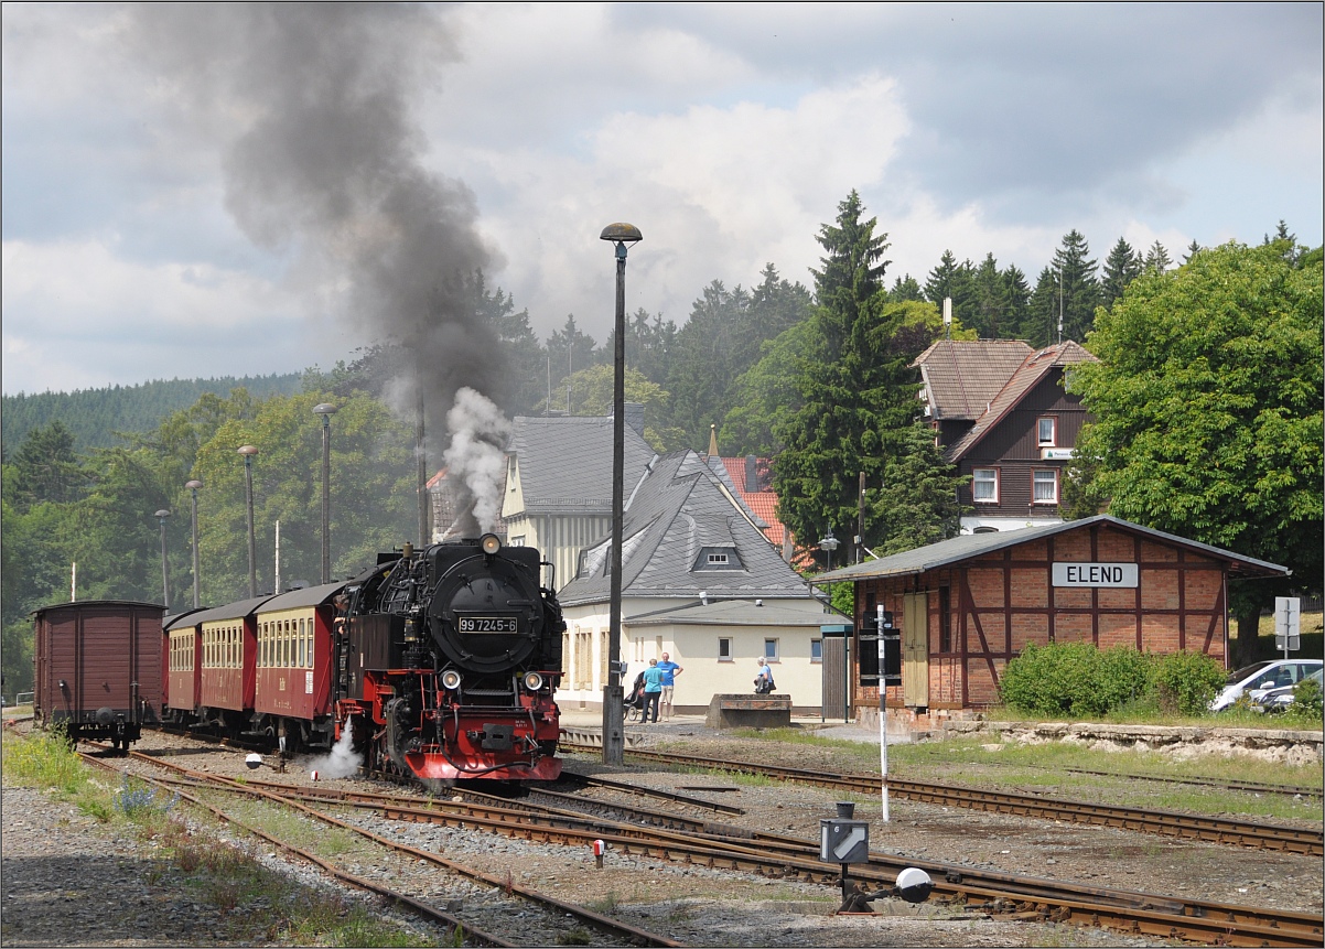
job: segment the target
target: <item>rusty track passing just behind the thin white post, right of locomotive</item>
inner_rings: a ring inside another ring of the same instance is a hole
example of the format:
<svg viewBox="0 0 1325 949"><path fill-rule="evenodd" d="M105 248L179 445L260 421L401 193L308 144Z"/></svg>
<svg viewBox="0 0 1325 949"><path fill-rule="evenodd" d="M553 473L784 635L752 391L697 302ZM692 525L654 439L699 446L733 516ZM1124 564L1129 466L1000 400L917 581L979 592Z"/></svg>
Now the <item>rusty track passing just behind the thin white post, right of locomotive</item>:
<svg viewBox="0 0 1325 949"><path fill-rule="evenodd" d="M598 750L591 745L579 744L563 745L563 748L566 750L582 752ZM625 754L662 765L681 765L729 774L758 774L779 781L827 787L844 794L878 794L880 791L877 774L825 774L779 765L704 758L690 754L647 752L640 749L627 749ZM902 781L893 777L888 778L888 793L890 797L921 801L941 807L966 807L998 814L1116 827L1142 834L1159 834L1189 840L1277 850L1310 856L1325 855L1325 835L1318 830L1265 824L1253 820L1198 816L1177 811L1137 810L1114 805L1092 805L1034 794L982 791L955 785Z"/></svg>

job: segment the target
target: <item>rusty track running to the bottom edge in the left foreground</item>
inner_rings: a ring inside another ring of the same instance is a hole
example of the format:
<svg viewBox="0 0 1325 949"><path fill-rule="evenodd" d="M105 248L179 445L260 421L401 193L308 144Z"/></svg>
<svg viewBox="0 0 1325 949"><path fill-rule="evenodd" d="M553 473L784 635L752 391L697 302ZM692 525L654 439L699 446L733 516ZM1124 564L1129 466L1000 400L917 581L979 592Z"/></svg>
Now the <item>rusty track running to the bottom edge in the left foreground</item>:
<svg viewBox="0 0 1325 949"><path fill-rule="evenodd" d="M586 907L566 903L546 893L538 892L533 888L517 884L509 876L497 877L490 873L485 873L484 871L466 867L454 860L449 860L437 854L409 847L398 840L391 840L382 835L372 834L371 831L358 827L354 823L341 820L334 815L310 807L309 803L306 803L306 801L311 799L314 802L326 802L327 798L318 795L309 795L303 793L303 789L298 789L295 786L285 786L278 790L273 790L269 782L261 782L265 786L260 786L258 782L248 782L248 781L238 782L220 775L195 771L183 767L180 765L176 765L174 762L162 761L160 758L147 755L139 752L131 752L129 754L129 758L151 763L154 767L168 770L170 773L176 775L175 781L168 781L168 782L158 781L154 778L143 778L143 779L150 781L152 783L168 786L179 791L183 799L187 799L191 803L211 811L221 820L242 827L248 832L254 834L256 836L264 840L268 840L269 843L281 848L286 854L290 854L292 856L297 856L302 860L307 860L309 863L321 867L323 871L326 871L335 879L342 880L343 883L366 889L368 892L378 893L388 900L392 900L401 907L412 909L424 919L428 919L433 922L447 926L453 933L458 930L458 933L461 933L461 938L466 940L472 945L494 945L494 946L525 945L530 938L531 926L527 920L522 920L521 921L522 941L521 942L509 941L504 936L489 932L482 925L476 925L472 919L461 917L456 912L440 909L437 907L420 901L409 896L408 893L403 893L400 891L390 888L382 883L350 873L344 868L337 867L331 862L325 860L317 856L315 854L311 854L303 848L294 847L293 844L280 840L272 836L270 834L236 818L233 814L223 811L216 805L204 801L199 795L199 793L207 790L207 791L225 791L231 794L242 794L248 797L261 798L282 807L292 807L315 820L319 820L325 824L338 827L341 830L368 839L379 847L386 847L412 860L419 860L427 864L432 864L435 867L445 868L448 871L458 873L462 877L492 887L497 892L504 893L506 897L518 897L526 904L538 907L539 911L547 917L549 921L546 925L549 928L549 932L553 933L553 936L549 936L549 938L546 940L546 944L549 945L554 944L554 938L558 930L560 930L562 936L570 938L570 936L566 932L567 925L564 922L567 919L575 920L576 925L590 926L598 930L600 936L606 936L610 940L615 940L620 945L631 945L631 946L680 945L664 936L659 936L645 929L640 929L639 926L632 926L627 922L621 922L620 920L604 916ZM105 759L85 754L83 759L93 765L105 767L107 770L122 773L122 769L117 767L115 763L113 762L115 761L122 762L123 758ZM142 775L135 775L135 777L142 777ZM522 916L523 915L526 913L522 913Z"/></svg>

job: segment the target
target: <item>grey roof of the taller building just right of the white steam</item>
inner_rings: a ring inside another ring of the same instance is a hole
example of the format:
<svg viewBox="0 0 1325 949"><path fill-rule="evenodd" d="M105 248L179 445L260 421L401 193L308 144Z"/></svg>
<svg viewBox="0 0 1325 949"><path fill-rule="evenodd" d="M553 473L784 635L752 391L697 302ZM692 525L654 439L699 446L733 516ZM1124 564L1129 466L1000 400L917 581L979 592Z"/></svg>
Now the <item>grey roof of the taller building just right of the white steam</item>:
<svg viewBox="0 0 1325 949"><path fill-rule="evenodd" d="M653 449L625 425L625 496ZM612 419L518 416L507 453L515 456L526 514L612 513ZM519 513L519 512L515 512Z"/></svg>

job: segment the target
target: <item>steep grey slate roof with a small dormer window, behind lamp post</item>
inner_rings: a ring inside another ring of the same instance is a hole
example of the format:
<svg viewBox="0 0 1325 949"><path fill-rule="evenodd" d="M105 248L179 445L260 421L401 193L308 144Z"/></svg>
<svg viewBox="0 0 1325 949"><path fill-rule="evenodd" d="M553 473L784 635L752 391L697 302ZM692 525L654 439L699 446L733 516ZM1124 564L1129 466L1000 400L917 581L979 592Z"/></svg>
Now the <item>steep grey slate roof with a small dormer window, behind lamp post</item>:
<svg viewBox="0 0 1325 949"><path fill-rule="evenodd" d="M659 459L625 512L623 596L806 598L806 581L755 526L749 508L692 451ZM611 537L583 554L584 569L558 594L563 606L600 603L611 595ZM696 569L705 547L735 550L741 569Z"/></svg>

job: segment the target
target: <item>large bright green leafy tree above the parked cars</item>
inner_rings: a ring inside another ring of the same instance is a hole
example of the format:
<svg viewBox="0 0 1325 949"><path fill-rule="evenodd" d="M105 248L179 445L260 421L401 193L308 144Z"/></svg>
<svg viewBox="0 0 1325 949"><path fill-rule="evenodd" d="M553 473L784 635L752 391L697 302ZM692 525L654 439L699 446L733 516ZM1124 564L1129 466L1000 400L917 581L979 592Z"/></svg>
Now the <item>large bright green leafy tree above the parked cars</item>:
<svg viewBox="0 0 1325 949"><path fill-rule="evenodd" d="M1242 660L1261 606L1322 567L1321 253L1230 243L1133 281L1079 366L1077 453L1110 513L1292 567L1238 585Z"/></svg>

